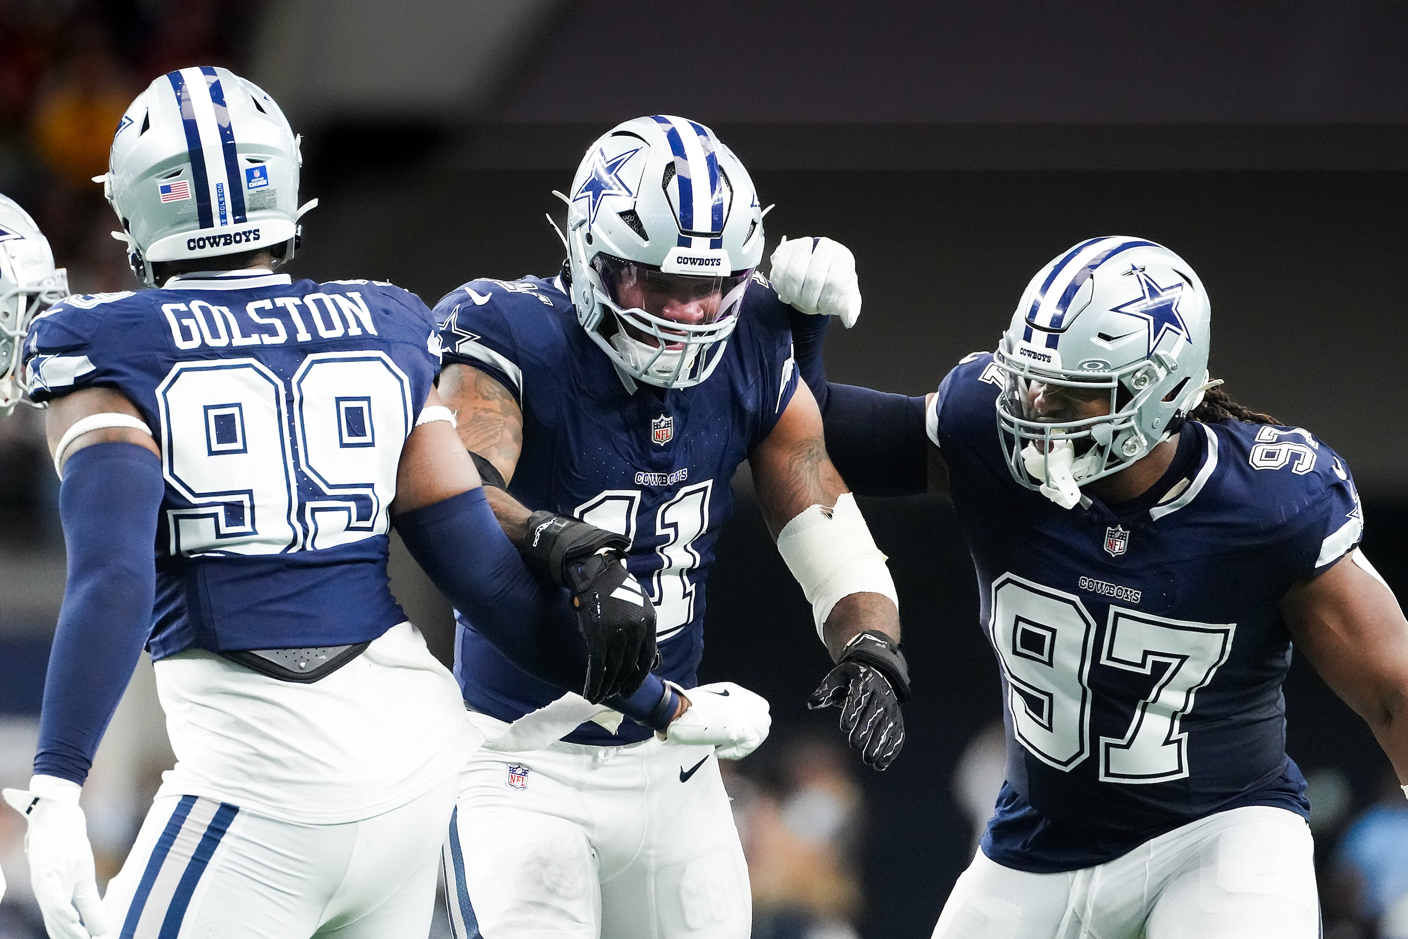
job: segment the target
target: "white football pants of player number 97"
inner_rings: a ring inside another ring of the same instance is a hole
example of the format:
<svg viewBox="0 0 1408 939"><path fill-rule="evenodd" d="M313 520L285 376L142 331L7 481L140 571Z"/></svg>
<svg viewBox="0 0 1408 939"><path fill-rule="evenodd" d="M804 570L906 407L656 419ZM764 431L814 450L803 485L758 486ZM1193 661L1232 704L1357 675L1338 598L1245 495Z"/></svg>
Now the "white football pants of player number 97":
<svg viewBox="0 0 1408 939"><path fill-rule="evenodd" d="M934 939L1316 939L1311 832L1281 808L1235 808L1122 857L1031 874L980 850Z"/></svg>

